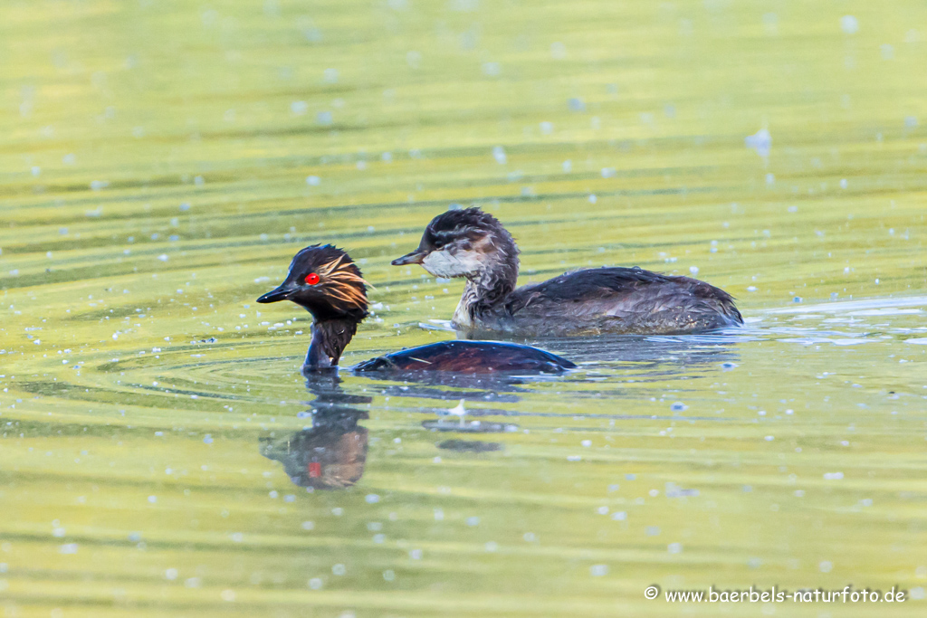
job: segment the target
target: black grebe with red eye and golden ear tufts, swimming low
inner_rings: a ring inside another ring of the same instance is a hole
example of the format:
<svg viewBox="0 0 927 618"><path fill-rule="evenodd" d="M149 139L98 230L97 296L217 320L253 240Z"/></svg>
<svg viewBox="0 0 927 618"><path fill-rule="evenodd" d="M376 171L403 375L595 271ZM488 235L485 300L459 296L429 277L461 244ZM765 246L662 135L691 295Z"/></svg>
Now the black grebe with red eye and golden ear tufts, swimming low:
<svg viewBox="0 0 927 618"><path fill-rule="evenodd" d="M291 300L312 314L312 341L304 372L336 367L357 326L367 317L361 270L335 246L307 246L290 264L286 280L259 303ZM489 341L442 341L370 359L355 372L541 372L573 369L567 359L537 347Z"/></svg>

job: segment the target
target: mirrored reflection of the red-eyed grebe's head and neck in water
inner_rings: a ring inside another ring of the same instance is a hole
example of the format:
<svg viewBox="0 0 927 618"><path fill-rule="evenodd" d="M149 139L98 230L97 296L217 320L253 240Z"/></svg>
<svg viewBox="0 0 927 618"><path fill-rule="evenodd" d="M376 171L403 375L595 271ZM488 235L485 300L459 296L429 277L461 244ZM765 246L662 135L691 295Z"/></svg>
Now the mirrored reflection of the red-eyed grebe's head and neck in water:
<svg viewBox="0 0 927 618"><path fill-rule="evenodd" d="M367 430L357 423L365 410L349 404L370 403L370 397L345 393L336 374L312 375L307 387L316 396L312 426L286 438L261 438L260 453L284 464L290 480L314 489L345 489L363 474L367 461Z"/></svg>

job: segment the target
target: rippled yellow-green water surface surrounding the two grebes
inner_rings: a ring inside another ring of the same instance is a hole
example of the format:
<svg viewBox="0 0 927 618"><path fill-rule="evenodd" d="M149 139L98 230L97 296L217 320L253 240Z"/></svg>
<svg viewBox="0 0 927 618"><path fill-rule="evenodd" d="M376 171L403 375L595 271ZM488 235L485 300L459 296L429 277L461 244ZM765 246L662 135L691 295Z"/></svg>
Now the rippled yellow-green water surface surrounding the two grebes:
<svg viewBox="0 0 927 618"><path fill-rule="evenodd" d="M12 0L0 23L0 614L873 612L654 583L898 585L884 615L923 612L927 6ZM448 337L419 323L461 284L388 262L452 202L509 227L525 283L695 268L748 324L542 342L581 370L518 385L344 374L363 473L310 493L266 457L319 409L309 316L254 298L333 242L379 303L346 364Z"/></svg>

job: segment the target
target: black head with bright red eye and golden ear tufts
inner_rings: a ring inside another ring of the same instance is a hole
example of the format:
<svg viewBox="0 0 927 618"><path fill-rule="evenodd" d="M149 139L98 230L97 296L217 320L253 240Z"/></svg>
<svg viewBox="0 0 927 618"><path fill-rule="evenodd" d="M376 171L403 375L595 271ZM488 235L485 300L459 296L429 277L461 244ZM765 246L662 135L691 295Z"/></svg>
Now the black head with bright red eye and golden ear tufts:
<svg viewBox="0 0 927 618"><path fill-rule="evenodd" d="M331 245L307 246L290 263L286 280L259 303L291 300L319 322L361 322L367 315L367 287L349 255Z"/></svg>

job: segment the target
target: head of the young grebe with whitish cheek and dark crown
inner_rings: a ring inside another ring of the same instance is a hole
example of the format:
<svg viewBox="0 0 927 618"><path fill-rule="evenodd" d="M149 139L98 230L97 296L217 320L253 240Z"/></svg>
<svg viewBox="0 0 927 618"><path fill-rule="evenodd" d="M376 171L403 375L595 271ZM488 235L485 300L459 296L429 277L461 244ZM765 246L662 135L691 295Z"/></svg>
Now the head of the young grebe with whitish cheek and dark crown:
<svg viewBox="0 0 927 618"><path fill-rule="evenodd" d="M517 269L518 247L488 212L451 209L428 223L417 249L392 263L421 264L437 277L473 279L499 265L514 263Z"/></svg>

